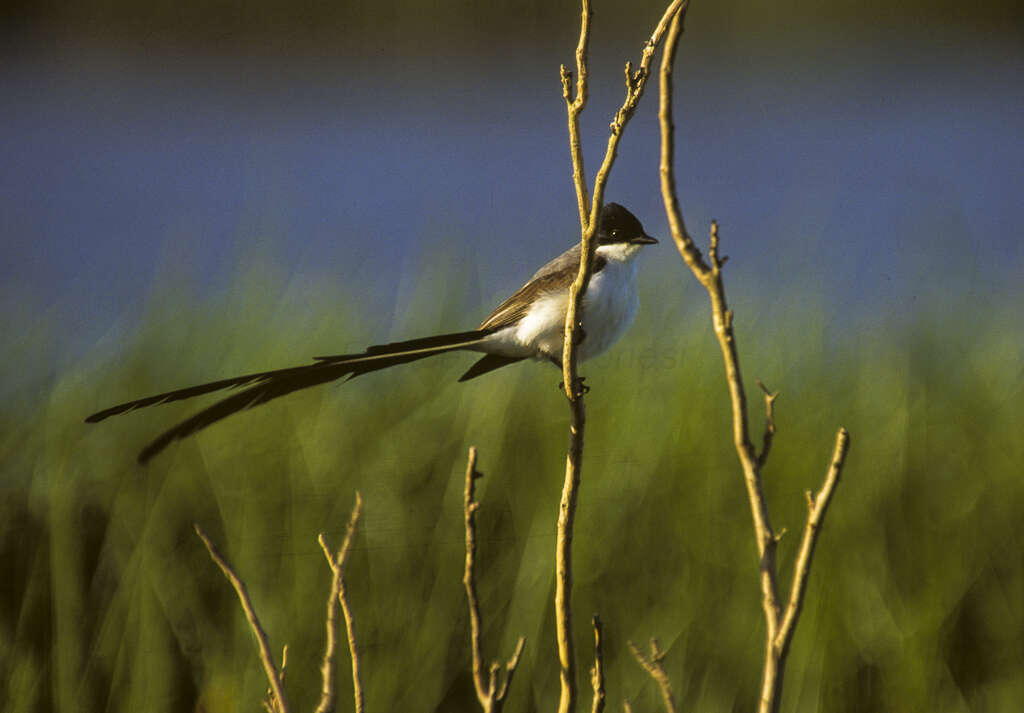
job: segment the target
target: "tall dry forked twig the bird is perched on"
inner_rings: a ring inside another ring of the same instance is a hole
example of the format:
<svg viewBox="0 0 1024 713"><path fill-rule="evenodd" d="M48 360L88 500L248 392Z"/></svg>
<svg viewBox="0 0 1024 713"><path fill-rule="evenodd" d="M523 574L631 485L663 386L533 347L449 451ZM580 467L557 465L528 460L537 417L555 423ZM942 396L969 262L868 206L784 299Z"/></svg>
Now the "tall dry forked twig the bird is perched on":
<svg viewBox="0 0 1024 713"><path fill-rule="evenodd" d="M590 283L596 245L594 236L598 228L604 188L618 151L626 125L636 112L640 97L647 84L651 57L654 49L678 13L685 13L689 0L673 0L662 16L654 32L644 43L640 67L633 71L631 62L626 62L626 98L610 125L610 135L605 146L604 160L594 178L594 192L587 206L587 183L583 167L583 151L580 142L580 114L587 100L587 50L590 37L591 10L589 0L582 0L580 41L577 45L577 89L572 95L571 76L561 68L562 95L565 98L569 125L569 145L572 158L572 177L580 211L581 254L580 270L569 286L568 304L565 311L565 338L562 349L562 383L569 401L569 447L565 459L565 479L558 509L558 534L555 542L555 630L558 641L560 664L559 680L561 695L559 713L575 710L575 647L572 642L572 612L570 605L572 590L572 531L575 520L577 498L583 463L584 428L587 421L584 409L581 381L577 370L575 345L580 341L583 321L582 301Z"/></svg>

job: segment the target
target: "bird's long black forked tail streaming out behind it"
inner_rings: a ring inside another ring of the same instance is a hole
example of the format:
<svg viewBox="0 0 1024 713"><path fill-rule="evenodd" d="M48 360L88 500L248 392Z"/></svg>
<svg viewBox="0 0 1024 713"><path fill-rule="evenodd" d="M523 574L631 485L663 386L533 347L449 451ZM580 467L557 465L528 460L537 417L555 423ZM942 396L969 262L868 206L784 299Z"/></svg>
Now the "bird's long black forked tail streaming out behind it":
<svg viewBox="0 0 1024 713"><path fill-rule="evenodd" d="M311 386L326 384L336 379L348 377L352 379L360 374L368 374L380 369L416 362L427 356L457 351L460 349L473 350L479 343L494 330L475 330L472 332L455 332L442 334L434 337L413 339L403 342L393 342L390 344L378 344L371 346L366 351L355 354L337 354L334 356L316 356L313 364L290 369L276 369L273 371L255 372L244 376L237 376L229 379L211 381L198 386L189 386L174 391L158 393L145 399L126 402L113 406L109 409L98 411L85 420L87 423L97 423L111 416L125 414L136 409L159 404L169 404L171 402L191 399L205 393L212 393L227 388L239 388L247 386L242 391L223 399L216 404L200 411L184 421L170 428L152 443L150 443L138 455L138 462L145 463L158 453L163 451L175 441L180 441L194 433L197 433L207 426L210 426L228 416L251 409L280 396L287 395L294 391L299 391ZM485 355L477 362L460 381L464 381L475 376L479 376L492 369L506 366L519 359L506 359L502 356Z"/></svg>

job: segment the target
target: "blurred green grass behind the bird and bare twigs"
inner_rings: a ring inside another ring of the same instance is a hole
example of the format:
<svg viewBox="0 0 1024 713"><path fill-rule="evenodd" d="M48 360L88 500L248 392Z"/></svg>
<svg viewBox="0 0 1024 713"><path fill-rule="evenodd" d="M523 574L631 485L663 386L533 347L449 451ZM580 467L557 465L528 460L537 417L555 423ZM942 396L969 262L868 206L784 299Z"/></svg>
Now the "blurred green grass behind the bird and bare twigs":
<svg viewBox="0 0 1024 713"><path fill-rule="evenodd" d="M653 635L683 710L751 710L762 623L750 514L705 298L678 287L690 278L673 262L645 276L629 337L584 369L594 390L574 550L581 681L598 612L614 705L657 708L626 649ZM122 399L472 321L466 270L443 259L418 270L390 334L326 278L290 279L258 257L246 265L215 293L166 277L137 325L0 409L0 707L255 710L265 689L256 649L195 521L247 580L273 644L289 644L293 703L310 707L330 574L316 534L340 540L359 490L348 577L369 709L472 709L461 584L472 444L485 473L486 653L507 656L525 635L509 710L549 708L567 416L554 370L457 384L466 360L443 356L246 413L144 469L138 448L194 407L82 423ZM750 392L756 377L782 391L765 485L773 523L790 532L783 572L803 491L820 483L836 428L853 435L784 709L1014 709L1024 700L1024 337L1013 301L937 300L851 326L796 288L774 301L732 289ZM5 371L48 343L48 329L7 348ZM760 432L760 404L752 412Z"/></svg>

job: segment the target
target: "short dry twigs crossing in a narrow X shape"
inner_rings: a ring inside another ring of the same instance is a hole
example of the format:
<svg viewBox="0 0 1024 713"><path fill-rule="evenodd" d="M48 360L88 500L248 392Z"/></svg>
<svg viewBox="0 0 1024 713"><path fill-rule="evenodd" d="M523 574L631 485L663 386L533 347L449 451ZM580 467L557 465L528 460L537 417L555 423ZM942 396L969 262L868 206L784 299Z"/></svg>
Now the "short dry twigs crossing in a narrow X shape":
<svg viewBox="0 0 1024 713"><path fill-rule="evenodd" d="M345 589L345 562L348 560L348 553L352 548L352 538L355 528L359 522L359 515L362 513L362 496L358 492L355 494L355 505L352 507L352 514L348 518L348 527L345 530L345 539L337 554L331 553L324 533L316 538L327 563L331 568L331 592L327 598L327 643L324 646L324 660L321 663L321 699L316 705L316 713L330 713L334 710L334 660L337 648L337 605L341 603L342 614L345 618L345 631L348 638L348 654L352 660L352 691L355 700L356 713L362 713L362 683L359 677L359 651L355 641L355 620L352 617L351 606L348 601L348 593Z"/></svg>

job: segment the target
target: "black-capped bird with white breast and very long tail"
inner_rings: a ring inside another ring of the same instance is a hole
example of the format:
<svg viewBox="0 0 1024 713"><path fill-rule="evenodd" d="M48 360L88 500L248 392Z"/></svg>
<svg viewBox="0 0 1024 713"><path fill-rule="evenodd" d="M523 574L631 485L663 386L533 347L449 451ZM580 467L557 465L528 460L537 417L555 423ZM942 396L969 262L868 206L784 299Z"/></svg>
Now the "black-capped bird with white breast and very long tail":
<svg viewBox="0 0 1024 713"><path fill-rule="evenodd" d="M636 258L644 246L657 243L644 232L640 220L617 203L602 206L595 239L593 271L583 299L583 336L577 346L580 361L608 349L632 324L639 305ZM138 462L145 464L174 442L241 411L294 391L449 351L483 353L459 381L526 359L550 362L561 369L568 291L580 268L581 249L578 243L547 262L475 330L377 344L359 353L313 356L311 364L218 379L125 402L97 411L85 421L98 423L147 406L242 388L158 435L138 454Z"/></svg>

